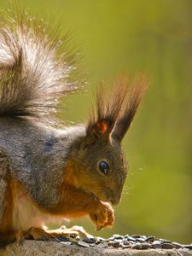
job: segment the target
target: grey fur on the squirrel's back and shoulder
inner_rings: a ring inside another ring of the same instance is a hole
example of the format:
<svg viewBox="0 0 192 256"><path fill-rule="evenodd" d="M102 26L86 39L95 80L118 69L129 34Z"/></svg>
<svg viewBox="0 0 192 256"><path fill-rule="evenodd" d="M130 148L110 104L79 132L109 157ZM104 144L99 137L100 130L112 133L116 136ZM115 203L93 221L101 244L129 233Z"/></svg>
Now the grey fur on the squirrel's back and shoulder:
<svg viewBox="0 0 192 256"><path fill-rule="evenodd" d="M57 131L26 119L1 118L0 124L1 147L9 157L11 176L23 184L39 206L54 207L60 198L70 148L85 129L76 126ZM50 137L54 143L48 150Z"/></svg>

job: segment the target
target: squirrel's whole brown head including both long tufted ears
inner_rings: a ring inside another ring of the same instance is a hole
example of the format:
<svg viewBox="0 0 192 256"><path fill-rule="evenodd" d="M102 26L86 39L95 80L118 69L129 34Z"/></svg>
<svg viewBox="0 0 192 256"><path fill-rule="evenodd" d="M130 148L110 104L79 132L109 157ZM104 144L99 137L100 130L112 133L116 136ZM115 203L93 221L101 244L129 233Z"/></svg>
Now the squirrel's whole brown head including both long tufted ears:
<svg viewBox="0 0 192 256"><path fill-rule="evenodd" d="M117 205L127 173L121 147L146 89L144 75L137 76L127 88L121 79L108 95L103 86L96 95L96 111L91 115L86 131L73 152L73 172L79 189L101 201Z"/></svg>

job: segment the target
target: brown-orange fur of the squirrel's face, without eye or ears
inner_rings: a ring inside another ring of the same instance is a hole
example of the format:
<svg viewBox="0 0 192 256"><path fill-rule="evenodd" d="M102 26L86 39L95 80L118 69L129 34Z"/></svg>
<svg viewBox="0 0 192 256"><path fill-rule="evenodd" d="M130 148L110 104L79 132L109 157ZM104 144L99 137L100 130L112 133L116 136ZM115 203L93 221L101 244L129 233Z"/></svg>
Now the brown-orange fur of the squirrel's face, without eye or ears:
<svg viewBox="0 0 192 256"><path fill-rule="evenodd" d="M102 160L109 165L108 175L99 169ZM113 137L101 137L89 141L85 137L79 150L73 152L72 166L78 189L96 195L99 200L114 205L119 203L127 170L125 157L117 140Z"/></svg>

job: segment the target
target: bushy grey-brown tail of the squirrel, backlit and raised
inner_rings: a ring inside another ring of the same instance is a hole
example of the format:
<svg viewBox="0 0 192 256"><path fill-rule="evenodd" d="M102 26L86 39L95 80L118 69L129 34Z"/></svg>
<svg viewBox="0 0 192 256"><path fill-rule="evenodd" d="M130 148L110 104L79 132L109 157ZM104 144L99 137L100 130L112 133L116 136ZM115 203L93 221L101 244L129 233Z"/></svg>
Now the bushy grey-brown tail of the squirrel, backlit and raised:
<svg viewBox="0 0 192 256"><path fill-rule="evenodd" d="M66 41L43 20L19 15L0 21L1 116L47 115L60 96L77 90Z"/></svg>

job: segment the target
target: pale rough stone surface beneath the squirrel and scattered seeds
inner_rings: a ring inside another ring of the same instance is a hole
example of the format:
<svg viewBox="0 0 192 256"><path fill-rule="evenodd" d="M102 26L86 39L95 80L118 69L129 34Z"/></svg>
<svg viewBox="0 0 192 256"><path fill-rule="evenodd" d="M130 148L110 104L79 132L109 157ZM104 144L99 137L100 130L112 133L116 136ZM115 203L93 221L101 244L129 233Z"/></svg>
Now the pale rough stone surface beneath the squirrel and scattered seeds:
<svg viewBox="0 0 192 256"><path fill-rule="evenodd" d="M147 249L147 250L133 250L133 249L115 249L102 247L79 247L76 245L64 245L57 241L25 241L22 246L16 243L10 244L5 249L0 249L0 256L192 256L192 251L188 249Z"/></svg>

